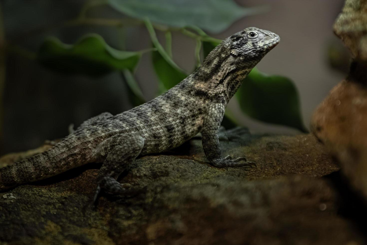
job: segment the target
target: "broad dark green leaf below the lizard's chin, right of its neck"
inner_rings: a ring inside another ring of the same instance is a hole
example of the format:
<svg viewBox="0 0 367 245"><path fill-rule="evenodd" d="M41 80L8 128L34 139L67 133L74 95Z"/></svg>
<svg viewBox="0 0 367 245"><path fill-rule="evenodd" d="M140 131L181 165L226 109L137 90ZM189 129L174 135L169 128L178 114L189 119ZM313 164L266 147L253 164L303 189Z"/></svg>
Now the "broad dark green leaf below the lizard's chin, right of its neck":
<svg viewBox="0 0 367 245"><path fill-rule="evenodd" d="M308 131L302 122L297 89L288 78L268 76L254 68L236 98L242 111L252 118Z"/></svg>

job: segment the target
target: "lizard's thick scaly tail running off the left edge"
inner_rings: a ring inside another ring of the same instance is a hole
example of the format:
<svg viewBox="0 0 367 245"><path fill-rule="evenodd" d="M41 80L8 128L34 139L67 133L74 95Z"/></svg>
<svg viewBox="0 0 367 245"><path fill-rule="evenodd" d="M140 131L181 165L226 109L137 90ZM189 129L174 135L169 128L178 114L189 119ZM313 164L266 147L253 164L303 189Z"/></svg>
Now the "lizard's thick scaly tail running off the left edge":
<svg viewBox="0 0 367 245"><path fill-rule="evenodd" d="M80 152L75 146L73 142L63 140L40 154L0 168L0 190L43 180L83 165L87 162L88 151L84 148Z"/></svg>

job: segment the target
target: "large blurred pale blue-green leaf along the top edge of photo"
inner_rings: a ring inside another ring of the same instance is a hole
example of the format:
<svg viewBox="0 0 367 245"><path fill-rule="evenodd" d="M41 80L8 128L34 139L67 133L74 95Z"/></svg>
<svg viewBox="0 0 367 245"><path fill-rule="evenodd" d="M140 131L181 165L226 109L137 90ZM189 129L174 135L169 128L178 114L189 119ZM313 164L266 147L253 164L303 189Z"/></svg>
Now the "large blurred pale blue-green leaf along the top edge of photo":
<svg viewBox="0 0 367 245"><path fill-rule="evenodd" d="M244 8L233 0L108 0L111 7L130 17L149 18L157 24L183 28L199 26L213 33L227 29L236 20L264 11Z"/></svg>

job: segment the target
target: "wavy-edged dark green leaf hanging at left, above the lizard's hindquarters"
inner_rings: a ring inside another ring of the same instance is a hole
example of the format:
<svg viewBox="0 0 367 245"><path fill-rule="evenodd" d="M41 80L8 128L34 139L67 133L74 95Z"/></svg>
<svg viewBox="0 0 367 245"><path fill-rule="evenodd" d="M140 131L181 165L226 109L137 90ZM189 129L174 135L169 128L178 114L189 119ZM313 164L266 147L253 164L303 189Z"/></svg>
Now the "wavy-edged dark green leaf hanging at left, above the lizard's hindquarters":
<svg viewBox="0 0 367 245"><path fill-rule="evenodd" d="M50 37L41 45L37 59L42 65L56 71L99 76L113 70L133 71L141 55L142 51L116 50L101 36L88 34L75 44L65 44L56 37Z"/></svg>

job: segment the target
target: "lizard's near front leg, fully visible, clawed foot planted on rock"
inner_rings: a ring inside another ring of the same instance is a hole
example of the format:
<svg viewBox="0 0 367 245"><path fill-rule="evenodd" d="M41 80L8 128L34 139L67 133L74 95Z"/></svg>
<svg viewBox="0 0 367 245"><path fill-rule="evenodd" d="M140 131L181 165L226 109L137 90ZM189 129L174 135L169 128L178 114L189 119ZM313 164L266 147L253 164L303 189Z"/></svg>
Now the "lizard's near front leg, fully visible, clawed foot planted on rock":
<svg viewBox="0 0 367 245"><path fill-rule="evenodd" d="M232 159L230 156L221 157L221 147L219 145L218 130L221 125L225 111L225 105L221 102L212 103L204 118L201 135L203 137L204 153L210 163L215 167L240 167L254 166L255 163L247 162L245 157Z"/></svg>

